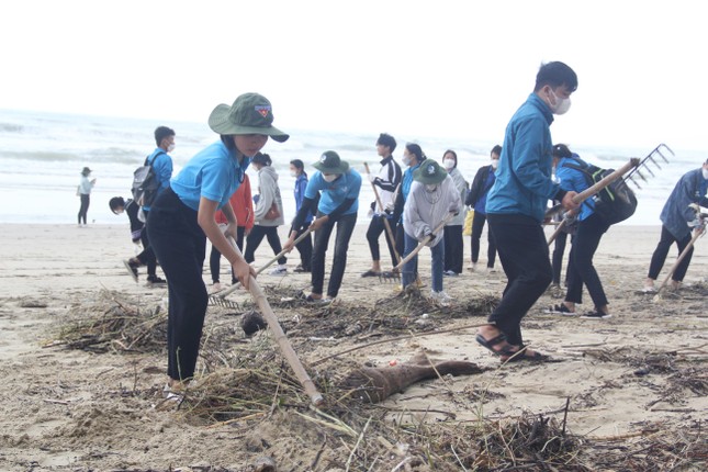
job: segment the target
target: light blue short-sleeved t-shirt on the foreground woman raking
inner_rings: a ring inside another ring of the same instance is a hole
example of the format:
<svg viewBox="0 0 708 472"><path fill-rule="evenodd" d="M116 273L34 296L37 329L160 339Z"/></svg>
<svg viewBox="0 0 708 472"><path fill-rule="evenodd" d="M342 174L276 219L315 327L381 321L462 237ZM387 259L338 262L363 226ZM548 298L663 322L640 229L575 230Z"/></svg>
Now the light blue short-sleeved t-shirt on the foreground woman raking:
<svg viewBox="0 0 708 472"><path fill-rule="evenodd" d="M192 157L172 178L170 187L182 203L192 210L199 210L202 196L218 202L217 209L221 209L244 181L249 165L248 157L244 157L239 165L236 150L228 150L220 141Z"/></svg>

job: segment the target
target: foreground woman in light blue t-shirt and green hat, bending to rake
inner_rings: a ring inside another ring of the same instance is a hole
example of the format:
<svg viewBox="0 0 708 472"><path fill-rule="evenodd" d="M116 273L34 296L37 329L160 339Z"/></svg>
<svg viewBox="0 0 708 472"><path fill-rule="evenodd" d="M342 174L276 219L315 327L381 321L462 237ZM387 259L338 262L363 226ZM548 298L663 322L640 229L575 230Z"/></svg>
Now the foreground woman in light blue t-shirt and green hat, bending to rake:
<svg viewBox="0 0 708 472"><path fill-rule="evenodd" d="M228 260L245 289L256 276L227 239L237 236L238 226L228 200L268 137L279 143L290 137L272 123L270 101L258 93L244 93L231 106L217 105L209 126L220 141L192 157L150 207L147 231L167 276L167 390L172 392L183 391L196 367L209 302L202 278L206 238ZM220 209L228 221L223 233L216 224Z"/></svg>

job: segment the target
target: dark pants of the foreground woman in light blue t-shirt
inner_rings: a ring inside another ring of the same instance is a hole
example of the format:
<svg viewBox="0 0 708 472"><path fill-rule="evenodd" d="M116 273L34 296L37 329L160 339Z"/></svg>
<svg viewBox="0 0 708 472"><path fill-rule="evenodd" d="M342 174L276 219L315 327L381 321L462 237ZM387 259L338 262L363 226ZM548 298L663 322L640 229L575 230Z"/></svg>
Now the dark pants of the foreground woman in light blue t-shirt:
<svg viewBox="0 0 708 472"><path fill-rule="evenodd" d="M194 375L209 296L202 279L206 236L196 212L168 188L153 203L147 231L167 277L167 374L186 380Z"/></svg>

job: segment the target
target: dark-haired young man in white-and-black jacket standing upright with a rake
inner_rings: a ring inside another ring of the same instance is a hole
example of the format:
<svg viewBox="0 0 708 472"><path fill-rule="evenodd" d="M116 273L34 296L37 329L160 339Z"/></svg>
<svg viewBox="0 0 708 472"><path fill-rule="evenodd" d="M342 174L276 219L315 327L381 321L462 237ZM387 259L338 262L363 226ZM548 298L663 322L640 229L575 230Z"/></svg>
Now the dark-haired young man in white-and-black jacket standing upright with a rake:
<svg viewBox="0 0 708 472"><path fill-rule="evenodd" d="M389 254L391 255L391 262L393 266L398 263L396 258L396 250L394 241L391 240L386 234L385 222L389 223L391 232L395 235L396 222L393 215L385 212L386 205L393 202L396 188L401 183L401 166L392 156L396 149L396 141L393 136L386 133L381 133L377 139L377 153L381 157L381 168L378 173L370 173L369 180L374 187L378 187L379 200L383 207L379 207L379 202L374 200L371 203L371 223L367 231L367 240L369 241L369 250L371 251L371 269L367 270L361 277L379 277L381 276L381 254L379 251L379 238L384 233L386 245L389 246Z"/></svg>

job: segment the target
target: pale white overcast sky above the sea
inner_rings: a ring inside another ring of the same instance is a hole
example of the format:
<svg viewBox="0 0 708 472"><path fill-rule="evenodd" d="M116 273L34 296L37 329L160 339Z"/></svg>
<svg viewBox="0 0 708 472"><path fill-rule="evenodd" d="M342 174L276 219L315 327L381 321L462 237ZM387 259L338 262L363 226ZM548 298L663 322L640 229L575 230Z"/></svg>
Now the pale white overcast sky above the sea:
<svg viewBox="0 0 708 472"><path fill-rule="evenodd" d="M576 4L577 3L577 4ZM708 151L698 1L34 1L0 5L0 108L501 142L541 63L578 75L555 141Z"/></svg>

